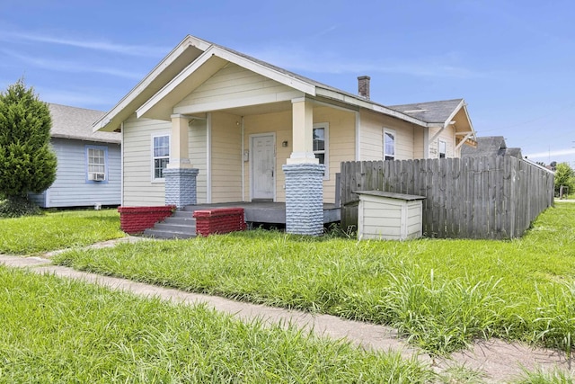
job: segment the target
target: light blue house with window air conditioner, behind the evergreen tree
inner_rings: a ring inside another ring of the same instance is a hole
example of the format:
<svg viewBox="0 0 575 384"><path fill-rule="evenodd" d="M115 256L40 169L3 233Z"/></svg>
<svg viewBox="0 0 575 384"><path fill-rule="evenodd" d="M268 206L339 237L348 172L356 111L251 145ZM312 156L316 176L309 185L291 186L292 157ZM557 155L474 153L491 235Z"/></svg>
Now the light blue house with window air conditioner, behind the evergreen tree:
<svg viewBox="0 0 575 384"><path fill-rule="evenodd" d="M118 206L121 135L93 132L93 121L104 112L59 104L49 104L49 111L56 181L48 190L31 194L31 200L43 208Z"/></svg>

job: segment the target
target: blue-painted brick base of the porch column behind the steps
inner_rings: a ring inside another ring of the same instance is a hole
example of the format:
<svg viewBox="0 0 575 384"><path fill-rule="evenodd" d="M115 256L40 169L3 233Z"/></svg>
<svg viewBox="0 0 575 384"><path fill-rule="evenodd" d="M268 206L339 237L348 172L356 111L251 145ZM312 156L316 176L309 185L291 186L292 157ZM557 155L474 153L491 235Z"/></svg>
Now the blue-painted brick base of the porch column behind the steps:
<svg viewBox="0 0 575 384"><path fill-rule="evenodd" d="M164 168L165 204L177 208L197 203L198 168Z"/></svg>

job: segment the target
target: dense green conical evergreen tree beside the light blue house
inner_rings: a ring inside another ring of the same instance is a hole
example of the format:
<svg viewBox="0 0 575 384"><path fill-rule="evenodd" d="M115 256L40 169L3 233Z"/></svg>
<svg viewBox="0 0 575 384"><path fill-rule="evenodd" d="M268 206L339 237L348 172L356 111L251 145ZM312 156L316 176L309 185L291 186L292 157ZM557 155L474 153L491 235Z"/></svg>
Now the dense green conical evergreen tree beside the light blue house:
<svg viewBox="0 0 575 384"><path fill-rule="evenodd" d="M50 118L47 103L40 101L23 80L0 93L0 195L25 199L40 193L56 180L57 158L49 147Z"/></svg>

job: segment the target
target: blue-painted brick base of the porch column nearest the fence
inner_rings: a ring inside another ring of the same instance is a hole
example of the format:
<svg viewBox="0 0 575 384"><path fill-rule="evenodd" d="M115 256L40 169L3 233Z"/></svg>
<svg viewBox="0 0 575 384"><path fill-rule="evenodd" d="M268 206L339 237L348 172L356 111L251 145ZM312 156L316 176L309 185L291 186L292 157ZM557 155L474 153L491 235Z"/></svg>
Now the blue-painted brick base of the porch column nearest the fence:
<svg viewBox="0 0 575 384"><path fill-rule="evenodd" d="M323 164L283 165L286 174L286 232L323 235Z"/></svg>

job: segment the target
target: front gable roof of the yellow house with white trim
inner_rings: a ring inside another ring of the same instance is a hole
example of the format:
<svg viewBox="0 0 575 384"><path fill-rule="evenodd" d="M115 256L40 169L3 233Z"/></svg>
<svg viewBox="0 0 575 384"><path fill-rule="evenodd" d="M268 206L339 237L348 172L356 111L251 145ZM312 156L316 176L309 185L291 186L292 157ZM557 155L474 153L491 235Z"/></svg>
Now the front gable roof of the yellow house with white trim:
<svg viewBox="0 0 575 384"><path fill-rule="evenodd" d="M366 108L375 112L394 116L403 121L427 127L428 123L410 114L374 103L356 94L349 94L329 85L323 85L305 76L296 75L286 69L252 58L234 49L187 36L172 50L138 85L93 125L94 129L115 130L121 122L134 112L146 117L157 105L173 104L180 98L182 90L191 92L202 79L213 75L225 62L246 67L262 76L267 76L280 84L288 85L312 97L329 99L354 108ZM198 75L192 78L192 75ZM176 102L176 103L177 103ZM151 113L153 114L153 113Z"/></svg>

